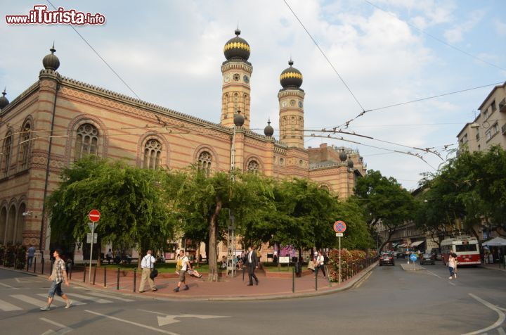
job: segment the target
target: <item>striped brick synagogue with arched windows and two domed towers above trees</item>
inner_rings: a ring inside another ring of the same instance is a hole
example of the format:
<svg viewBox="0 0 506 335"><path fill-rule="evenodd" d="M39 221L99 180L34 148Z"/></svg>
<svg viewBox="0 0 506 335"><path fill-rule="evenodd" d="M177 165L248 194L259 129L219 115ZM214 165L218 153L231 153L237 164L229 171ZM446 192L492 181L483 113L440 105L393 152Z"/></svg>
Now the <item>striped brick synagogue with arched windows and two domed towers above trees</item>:
<svg viewBox="0 0 506 335"><path fill-rule="evenodd" d="M308 178L339 198L352 194L356 179L365 175L358 151L327 144L304 148L304 118L311 115L304 113L302 74L291 60L273 92L279 138L271 122L264 134L249 129L255 118L253 65L240 30L223 49L219 123L64 77L54 46L50 50L34 84L12 101L6 91L0 97L0 244L33 245L47 255L51 229L44 199L58 187L63 167L90 154L146 169L197 164L209 173L234 167Z"/></svg>

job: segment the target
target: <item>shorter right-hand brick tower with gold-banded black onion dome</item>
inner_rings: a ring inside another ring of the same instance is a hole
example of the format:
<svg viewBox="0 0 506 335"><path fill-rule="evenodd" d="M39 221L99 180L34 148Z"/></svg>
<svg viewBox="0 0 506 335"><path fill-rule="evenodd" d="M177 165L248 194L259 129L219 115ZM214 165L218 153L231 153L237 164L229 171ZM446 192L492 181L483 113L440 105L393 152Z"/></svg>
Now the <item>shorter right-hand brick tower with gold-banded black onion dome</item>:
<svg viewBox="0 0 506 335"><path fill-rule="evenodd" d="M302 74L294 68L292 59L289 68L281 72L278 93L280 103L280 141L287 146L304 148L304 90L301 89Z"/></svg>

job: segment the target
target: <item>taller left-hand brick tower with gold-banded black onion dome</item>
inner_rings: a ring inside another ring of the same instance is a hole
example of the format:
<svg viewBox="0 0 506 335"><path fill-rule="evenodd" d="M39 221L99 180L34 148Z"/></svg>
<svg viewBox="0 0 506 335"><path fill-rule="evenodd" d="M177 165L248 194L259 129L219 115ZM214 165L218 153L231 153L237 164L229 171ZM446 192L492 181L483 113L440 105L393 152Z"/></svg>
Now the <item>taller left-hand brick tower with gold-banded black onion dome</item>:
<svg viewBox="0 0 506 335"><path fill-rule="evenodd" d="M249 82L253 72L249 58L249 44L239 37L240 30L235 30L235 37L229 39L223 47L226 61L221 65L223 75L221 94L220 123L225 127L233 127L233 117L238 110L245 117L242 127L249 129L249 106L251 88Z"/></svg>

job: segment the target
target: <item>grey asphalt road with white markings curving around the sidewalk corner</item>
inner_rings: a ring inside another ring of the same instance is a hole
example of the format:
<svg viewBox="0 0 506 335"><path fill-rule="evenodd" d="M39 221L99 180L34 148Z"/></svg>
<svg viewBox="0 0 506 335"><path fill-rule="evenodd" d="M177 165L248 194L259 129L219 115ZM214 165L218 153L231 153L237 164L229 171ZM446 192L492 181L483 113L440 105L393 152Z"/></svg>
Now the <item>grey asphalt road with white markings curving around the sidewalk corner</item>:
<svg viewBox="0 0 506 335"><path fill-rule="evenodd" d="M406 262L406 261L404 261ZM277 301L160 301L64 288L48 312L49 282L0 270L0 334L499 334L505 335L506 272L376 267L355 288ZM58 300L59 299L59 300Z"/></svg>

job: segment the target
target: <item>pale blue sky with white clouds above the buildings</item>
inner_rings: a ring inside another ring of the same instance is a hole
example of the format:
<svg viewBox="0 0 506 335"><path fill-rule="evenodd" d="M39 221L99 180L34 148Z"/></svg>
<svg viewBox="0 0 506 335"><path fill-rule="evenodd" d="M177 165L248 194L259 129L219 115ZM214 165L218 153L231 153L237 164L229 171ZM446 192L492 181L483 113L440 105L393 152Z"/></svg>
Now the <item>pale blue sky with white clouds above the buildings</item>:
<svg viewBox="0 0 506 335"><path fill-rule="evenodd" d="M454 155L458 132L506 80L504 0L50 1L105 16L76 30L135 93L69 25L6 24L4 15L48 2L2 0L0 87L10 101L38 80L54 41L60 75L218 123L223 46L239 26L251 47L252 129L263 134L270 118L278 137L279 75L292 58L304 76L306 147L357 149L368 170L406 189ZM334 127L365 137L311 136Z"/></svg>

